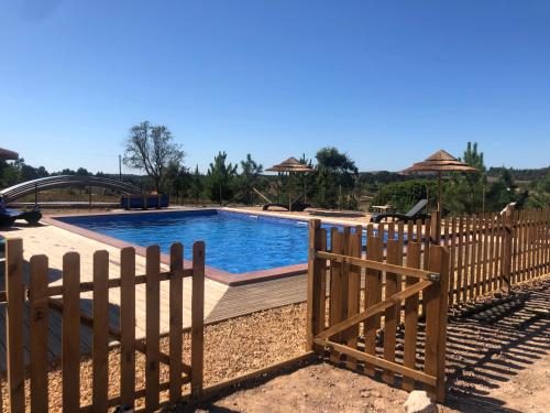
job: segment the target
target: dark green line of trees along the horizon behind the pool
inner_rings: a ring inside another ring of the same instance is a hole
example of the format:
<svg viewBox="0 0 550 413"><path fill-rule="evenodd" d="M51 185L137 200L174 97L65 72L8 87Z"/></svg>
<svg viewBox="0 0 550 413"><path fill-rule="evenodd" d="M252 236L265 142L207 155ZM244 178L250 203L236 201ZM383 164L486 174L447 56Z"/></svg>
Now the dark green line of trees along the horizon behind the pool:
<svg viewBox="0 0 550 413"><path fill-rule="evenodd" d="M164 144L173 145L169 131L161 132L168 133L164 137ZM138 171L142 170L144 174L123 174L122 178L144 191L167 193L179 204L254 205L266 199L288 203L290 192L293 200L321 208L359 210L370 205L391 204L396 210L406 211L422 198L430 199L430 206L435 206L435 177L400 175L388 171L359 172L353 159L331 146L320 149L315 159L302 155L299 162L309 165L314 172L295 173L292 176L266 175L263 165L251 154L233 164L228 161L228 153L222 151L215 155L207 173L201 173L198 166L188 167L185 164L185 153L179 146L172 148L174 156L167 156L165 163L145 167L150 160L144 159L144 165L140 167L141 160L134 157L131 163L128 161L128 146L127 142L124 163ZM450 173L446 177L443 213L460 215L494 211L512 202L517 203L518 208L550 206L550 166L486 169L483 157L476 143L468 143L460 159L480 172ZM119 174L92 174L85 167L50 173L44 166L26 164L23 157L12 163L0 162L0 187L50 175L119 178Z"/></svg>

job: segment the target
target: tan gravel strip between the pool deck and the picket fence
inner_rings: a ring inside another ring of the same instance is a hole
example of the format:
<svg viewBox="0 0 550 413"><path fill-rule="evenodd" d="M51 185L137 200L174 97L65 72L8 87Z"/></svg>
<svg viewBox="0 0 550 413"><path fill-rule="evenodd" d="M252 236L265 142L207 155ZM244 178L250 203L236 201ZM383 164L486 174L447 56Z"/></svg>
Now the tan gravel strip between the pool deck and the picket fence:
<svg viewBox="0 0 550 413"><path fill-rule="evenodd" d="M257 370L262 367L299 356L305 351L306 304L288 305L248 316L229 319L205 328L205 385L231 379L235 376ZM161 340L162 351L168 352L168 338ZM189 362L190 339L184 335L184 360ZM119 394L116 385L120 378L120 351L111 350L109 355L109 396ZM145 356L136 352L136 389L145 384L143 367ZM91 362L84 358L80 369L80 405L91 402ZM168 369L161 363L161 382L168 380ZM57 369L50 373L51 412L62 410L62 374ZM184 391L188 391L187 388ZM25 392L30 393L29 381L25 381ZM168 398L167 392L161 400ZM7 411L7 387L2 380L3 407ZM136 407L143 406L144 400L136 402Z"/></svg>

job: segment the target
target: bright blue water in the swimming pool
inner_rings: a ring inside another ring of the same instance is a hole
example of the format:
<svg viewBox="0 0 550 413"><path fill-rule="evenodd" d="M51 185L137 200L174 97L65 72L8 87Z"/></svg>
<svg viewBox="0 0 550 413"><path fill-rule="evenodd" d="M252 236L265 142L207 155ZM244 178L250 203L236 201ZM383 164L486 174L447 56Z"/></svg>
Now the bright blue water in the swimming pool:
<svg viewBox="0 0 550 413"><path fill-rule="evenodd" d="M191 258L195 241L206 242L206 263L231 273L266 270L307 262L305 221L221 210L105 215L59 218L112 238L168 252L182 242Z"/></svg>

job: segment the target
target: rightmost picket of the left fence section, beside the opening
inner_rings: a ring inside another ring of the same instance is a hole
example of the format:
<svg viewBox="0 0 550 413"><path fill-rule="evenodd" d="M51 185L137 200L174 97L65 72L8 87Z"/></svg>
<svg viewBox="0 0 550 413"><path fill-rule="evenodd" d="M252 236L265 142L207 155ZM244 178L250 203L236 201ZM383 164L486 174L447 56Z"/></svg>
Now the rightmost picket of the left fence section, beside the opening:
<svg viewBox="0 0 550 413"><path fill-rule="evenodd" d="M191 291L191 398L202 393L205 349L205 242L193 244Z"/></svg>

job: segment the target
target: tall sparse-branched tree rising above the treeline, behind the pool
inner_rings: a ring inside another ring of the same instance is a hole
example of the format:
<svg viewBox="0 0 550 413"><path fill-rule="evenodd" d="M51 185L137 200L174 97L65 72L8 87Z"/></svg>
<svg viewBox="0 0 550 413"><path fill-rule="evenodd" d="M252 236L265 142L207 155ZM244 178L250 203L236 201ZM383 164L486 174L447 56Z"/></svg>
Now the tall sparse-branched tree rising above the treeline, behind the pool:
<svg viewBox="0 0 550 413"><path fill-rule="evenodd" d="M168 128L153 126L147 121L130 129L124 145L124 164L145 171L153 180L157 193L164 188L168 165L180 164L185 156L180 145L174 142Z"/></svg>

